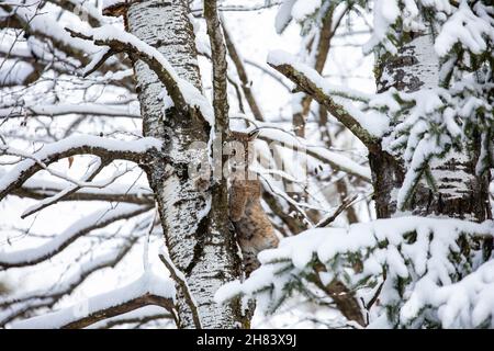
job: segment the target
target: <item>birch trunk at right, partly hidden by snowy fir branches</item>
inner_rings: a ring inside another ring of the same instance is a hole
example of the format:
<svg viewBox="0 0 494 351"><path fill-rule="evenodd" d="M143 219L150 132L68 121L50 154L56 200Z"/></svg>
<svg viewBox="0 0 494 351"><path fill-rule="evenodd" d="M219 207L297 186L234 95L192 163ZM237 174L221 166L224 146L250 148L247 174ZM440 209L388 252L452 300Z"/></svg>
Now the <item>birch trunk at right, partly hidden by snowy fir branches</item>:
<svg viewBox="0 0 494 351"><path fill-rule="evenodd" d="M380 57L377 68L379 92L391 87L405 92L437 87L439 59L434 50L433 36L412 33L411 39L398 49L398 54ZM474 222L491 218L489 176L475 173L479 152L480 143L475 143L464 145L461 152L450 151L444 159L434 160L430 172L437 189L434 191L425 181L420 181L409 202L412 213ZM379 218L388 218L396 213L395 194L406 172L402 157L385 150L369 155Z"/></svg>

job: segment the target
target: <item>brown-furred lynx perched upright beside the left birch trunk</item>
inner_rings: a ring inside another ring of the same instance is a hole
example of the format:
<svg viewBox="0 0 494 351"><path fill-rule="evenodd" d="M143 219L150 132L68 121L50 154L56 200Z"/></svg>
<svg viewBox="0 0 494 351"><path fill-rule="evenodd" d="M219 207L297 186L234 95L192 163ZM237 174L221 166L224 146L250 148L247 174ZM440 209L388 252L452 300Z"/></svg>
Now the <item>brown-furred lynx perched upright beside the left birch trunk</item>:
<svg viewBox="0 0 494 351"><path fill-rule="evenodd" d="M237 233L238 245L244 257L246 276L260 263L257 254L278 246L278 237L262 210L261 184L249 171L249 160L254 159L251 143L258 133L229 132L229 141L234 143L229 174L229 217ZM235 146L236 144L236 146Z"/></svg>

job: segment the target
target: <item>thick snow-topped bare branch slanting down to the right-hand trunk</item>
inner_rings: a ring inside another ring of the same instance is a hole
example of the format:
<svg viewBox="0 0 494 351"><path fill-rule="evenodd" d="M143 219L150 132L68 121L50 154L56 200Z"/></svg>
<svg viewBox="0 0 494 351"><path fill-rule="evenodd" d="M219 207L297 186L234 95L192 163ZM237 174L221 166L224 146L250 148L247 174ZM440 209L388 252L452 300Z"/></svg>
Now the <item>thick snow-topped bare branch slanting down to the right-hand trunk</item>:
<svg viewBox="0 0 494 351"><path fill-rule="evenodd" d="M297 61L296 57L280 50L271 52L268 64L310 94L341 122L370 150L379 150L379 137L388 127L388 121L369 120L345 100L368 102L370 97L343 87L328 84L314 69ZM336 99L340 98L340 99Z"/></svg>

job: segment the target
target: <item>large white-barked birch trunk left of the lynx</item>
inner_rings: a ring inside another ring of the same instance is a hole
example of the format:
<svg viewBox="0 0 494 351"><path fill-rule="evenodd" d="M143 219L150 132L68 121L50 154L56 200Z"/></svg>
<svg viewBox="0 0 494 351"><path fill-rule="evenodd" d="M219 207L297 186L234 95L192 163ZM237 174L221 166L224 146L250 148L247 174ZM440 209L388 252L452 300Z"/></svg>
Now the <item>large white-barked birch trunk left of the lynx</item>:
<svg viewBox="0 0 494 351"><path fill-rule="evenodd" d="M125 23L127 31L157 48L180 78L201 90L189 12L187 0L144 0L130 4ZM242 270L227 204L212 202L212 191L201 190L188 173L189 165L201 158L201 152L189 147L194 141L207 143L210 125L193 112L165 110L165 88L157 76L138 60L134 70L144 135L165 145L164 151L144 168L158 204L170 258L186 275L194 297L194 302L188 301L178 288L178 327L198 327L191 305L198 306L204 328L245 327L247 321L237 302L226 305L213 302L216 290L238 279Z"/></svg>

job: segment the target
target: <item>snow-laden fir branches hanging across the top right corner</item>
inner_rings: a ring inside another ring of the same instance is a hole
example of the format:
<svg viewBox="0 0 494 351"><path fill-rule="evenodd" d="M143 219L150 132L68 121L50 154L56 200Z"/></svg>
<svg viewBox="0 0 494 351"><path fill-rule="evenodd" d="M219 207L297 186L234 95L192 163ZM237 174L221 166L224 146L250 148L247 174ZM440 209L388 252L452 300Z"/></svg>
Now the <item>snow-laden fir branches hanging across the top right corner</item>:
<svg viewBox="0 0 494 351"><path fill-rule="evenodd" d="M459 47L474 55L489 53L494 42L492 7L484 1L375 0L373 14L373 31L364 52L380 46L395 55L405 34L426 31L429 18L437 24L435 49L440 57Z"/></svg>

